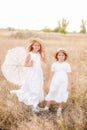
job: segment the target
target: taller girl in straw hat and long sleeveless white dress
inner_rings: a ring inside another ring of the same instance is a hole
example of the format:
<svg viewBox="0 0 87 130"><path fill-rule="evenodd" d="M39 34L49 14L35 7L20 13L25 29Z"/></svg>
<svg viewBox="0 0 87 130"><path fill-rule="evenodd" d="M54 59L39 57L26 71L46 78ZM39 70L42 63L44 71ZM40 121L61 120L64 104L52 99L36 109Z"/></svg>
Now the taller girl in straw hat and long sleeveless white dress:
<svg viewBox="0 0 87 130"><path fill-rule="evenodd" d="M39 112L38 104L44 100L41 60L45 62L42 41L38 38L31 39L24 62L28 68L25 83L19 90L10 91L17 95L20 102L31 106L34 112Z"/></svg>

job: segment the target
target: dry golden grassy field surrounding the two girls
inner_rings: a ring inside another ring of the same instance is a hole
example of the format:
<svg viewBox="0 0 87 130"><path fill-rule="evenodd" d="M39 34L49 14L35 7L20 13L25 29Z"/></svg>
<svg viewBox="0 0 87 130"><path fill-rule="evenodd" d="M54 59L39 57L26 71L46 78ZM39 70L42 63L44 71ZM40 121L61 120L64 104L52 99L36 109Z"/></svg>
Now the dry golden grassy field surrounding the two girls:
<svg viewBox="0 0 87 130"><path fill-rule="evenodd" d="M45 95L49 90L50 67L56 50L63 47L68 51L68 62L72 68L69 99L60 119L56 117L56 103L53 103L48 114L42 112L36 115L9 93L19 87L8 82L0 69L0 130L87 130L87 34L0 30L0 65L8 49L27 47L30 37L40 37L44 41L48 59L46 64L42 64Z"/></svg>

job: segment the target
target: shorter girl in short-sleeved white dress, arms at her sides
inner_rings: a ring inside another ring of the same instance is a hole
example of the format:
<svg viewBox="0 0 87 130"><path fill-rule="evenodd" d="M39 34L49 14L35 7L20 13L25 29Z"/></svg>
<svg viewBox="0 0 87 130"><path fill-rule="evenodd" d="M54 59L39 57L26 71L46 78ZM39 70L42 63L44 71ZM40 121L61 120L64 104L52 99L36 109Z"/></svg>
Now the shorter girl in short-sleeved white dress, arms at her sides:
<svg viewBox="0 0 87 130"><path fill-rule="evenodd" d="M50 90L46 96L47 104L44 108L49 111L51 101L59 103L57 109L57 116L61 116L64 103L68 99L68 91L71 88L71 67L69 63L65 62L67 53L63 48L59 48L55 54L56 62L52 64L50 76Z"/></svg>

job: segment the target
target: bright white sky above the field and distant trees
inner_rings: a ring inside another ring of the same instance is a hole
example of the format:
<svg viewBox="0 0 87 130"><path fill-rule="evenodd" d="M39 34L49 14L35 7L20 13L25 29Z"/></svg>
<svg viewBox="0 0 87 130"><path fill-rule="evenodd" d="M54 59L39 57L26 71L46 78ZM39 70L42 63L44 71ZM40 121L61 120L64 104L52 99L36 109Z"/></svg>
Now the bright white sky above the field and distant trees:
<svg viewBox="0 0 87 130"><path fill-rule="evenodd" d="M54 29L58 21L69 21L68 31L80 31L87 21L87 0L0 0L0 28Z"/></svg>

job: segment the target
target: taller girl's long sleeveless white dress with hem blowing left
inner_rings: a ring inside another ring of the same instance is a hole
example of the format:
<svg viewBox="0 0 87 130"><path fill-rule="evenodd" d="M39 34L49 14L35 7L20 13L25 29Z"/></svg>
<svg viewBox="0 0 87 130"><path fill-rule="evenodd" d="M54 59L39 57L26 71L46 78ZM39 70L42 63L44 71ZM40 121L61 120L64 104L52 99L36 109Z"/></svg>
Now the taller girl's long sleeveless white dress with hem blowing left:
<svg viewBox="0 0 87 130"><path fill-rule="evenodd" d="M43 96L43 72L41 68L41 56L39 53L30 52L30 58L34 61L32 67L28 67L25 84L19 90L12 90L20 102L36 107L44 99Z"/></svg>

